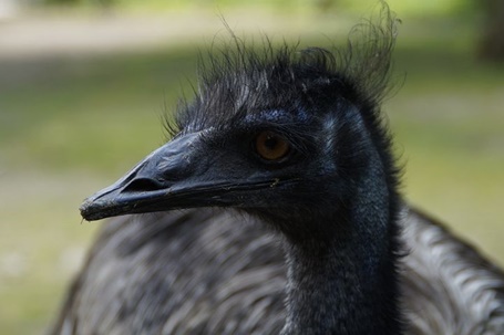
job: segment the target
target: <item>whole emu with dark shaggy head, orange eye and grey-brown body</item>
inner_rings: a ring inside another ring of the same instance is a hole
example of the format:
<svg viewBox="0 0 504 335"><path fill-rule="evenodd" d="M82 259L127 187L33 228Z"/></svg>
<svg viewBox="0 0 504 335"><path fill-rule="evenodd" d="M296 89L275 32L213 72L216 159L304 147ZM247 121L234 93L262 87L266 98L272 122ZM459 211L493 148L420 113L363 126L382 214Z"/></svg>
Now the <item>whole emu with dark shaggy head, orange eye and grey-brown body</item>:
<svg viewBox="0 0 504 335"><path fill-rule="evenodd" d="M504 334L502 271L398 191L390 12L333 52L233 41L173 139L82 205L131 216L53 334Z"/></svg>

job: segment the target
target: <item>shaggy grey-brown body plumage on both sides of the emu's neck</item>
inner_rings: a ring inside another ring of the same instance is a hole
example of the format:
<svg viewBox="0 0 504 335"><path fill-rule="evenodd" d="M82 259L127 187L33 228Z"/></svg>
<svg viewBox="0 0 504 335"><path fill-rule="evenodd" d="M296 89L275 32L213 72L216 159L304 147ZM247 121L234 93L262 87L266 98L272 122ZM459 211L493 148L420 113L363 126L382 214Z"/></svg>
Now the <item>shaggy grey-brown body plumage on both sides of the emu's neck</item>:
<svg viewBox="0 0 504 335"><path fill-rule="evenodd" d="M407 334L502 334L504 280L418 211L401 214ZM113 219L54 334L278 334L285 255L260 222L223 210Z"/></svg>

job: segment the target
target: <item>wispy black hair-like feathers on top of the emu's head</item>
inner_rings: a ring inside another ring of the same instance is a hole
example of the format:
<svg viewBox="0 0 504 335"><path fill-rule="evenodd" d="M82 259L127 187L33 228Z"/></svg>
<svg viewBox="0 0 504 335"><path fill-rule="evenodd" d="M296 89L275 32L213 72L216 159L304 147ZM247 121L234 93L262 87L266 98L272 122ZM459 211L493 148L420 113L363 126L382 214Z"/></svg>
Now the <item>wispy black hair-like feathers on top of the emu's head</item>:
<svg viewBox="0 0 504 335"><path fill-rule="evenodd" d="M183 101L176 124L167 128L192 133L233 125L246 114L301 104L346 100L379 117L389 92L391 53L399 20L382 4L379 14L356 25L344 48L307 48L268 38L260 48L246 44L230 29L230 41L213 44L199 59L195 98Z"/></svg>

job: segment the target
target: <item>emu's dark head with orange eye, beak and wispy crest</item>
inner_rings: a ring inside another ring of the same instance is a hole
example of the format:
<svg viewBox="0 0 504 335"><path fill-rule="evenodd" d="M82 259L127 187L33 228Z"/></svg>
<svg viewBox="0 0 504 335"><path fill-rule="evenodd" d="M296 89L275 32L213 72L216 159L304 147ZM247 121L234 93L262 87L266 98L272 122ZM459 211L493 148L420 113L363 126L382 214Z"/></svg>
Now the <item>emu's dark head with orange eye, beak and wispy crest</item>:
<svg viewBox="0 0 504 335"><path fill-rule="evenodd" d="M394 20L380 18L354 29L344 51L275 50L267 42L257 52L234 39L202 65L194 101L179 106L171 126L173 139L86 199L82 216L229 207L294 233L296 218L347 208L370 167L389 182L379 103Z"/></svg>

